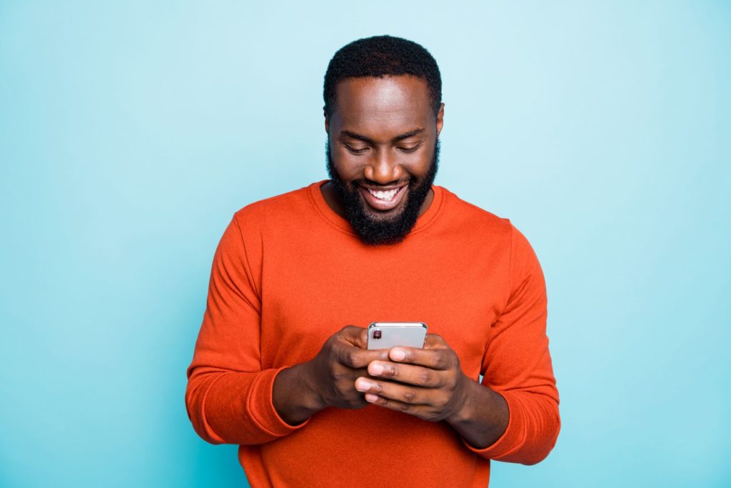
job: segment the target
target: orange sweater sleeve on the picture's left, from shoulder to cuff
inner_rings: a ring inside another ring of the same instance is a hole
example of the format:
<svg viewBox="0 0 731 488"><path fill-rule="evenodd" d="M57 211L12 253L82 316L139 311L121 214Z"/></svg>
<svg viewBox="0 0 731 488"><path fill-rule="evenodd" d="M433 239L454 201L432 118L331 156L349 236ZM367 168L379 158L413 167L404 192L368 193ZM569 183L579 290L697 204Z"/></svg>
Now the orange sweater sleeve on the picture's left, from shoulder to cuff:
<svg viewBox="0 0 731 488"><path fill-rule="evenodd" d="M210 443L260 444L296 429L276 413L272 389L280 369L260 362L261 239L244 239L237 217L213 258L203 323L188 368L186 408Z"/></svg>

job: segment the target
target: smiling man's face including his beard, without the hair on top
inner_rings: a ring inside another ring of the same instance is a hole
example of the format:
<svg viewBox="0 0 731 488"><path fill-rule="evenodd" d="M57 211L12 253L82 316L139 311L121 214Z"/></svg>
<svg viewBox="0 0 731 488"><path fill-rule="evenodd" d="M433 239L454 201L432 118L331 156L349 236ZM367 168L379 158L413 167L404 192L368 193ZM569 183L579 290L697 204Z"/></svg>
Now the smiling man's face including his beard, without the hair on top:
<svg viewBox="0 0 731 488"><path fill-rule="evenodd" d="M435 116L425 80L406 75L349 78L336 100L325 119L336 204L366 244L402 241L433 197L444 106Z"/></svg>

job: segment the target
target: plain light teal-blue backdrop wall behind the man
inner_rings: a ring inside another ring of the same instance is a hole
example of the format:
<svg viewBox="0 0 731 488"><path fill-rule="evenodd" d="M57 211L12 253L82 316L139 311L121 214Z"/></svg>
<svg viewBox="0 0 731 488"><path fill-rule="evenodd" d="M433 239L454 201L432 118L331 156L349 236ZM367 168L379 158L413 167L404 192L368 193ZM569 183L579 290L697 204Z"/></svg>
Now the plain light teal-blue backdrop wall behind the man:
<svg viewBox="0 0 731 488"><path fill-rule="evenodd" d="M548 280L563 428L491 486L731 486L731 2L9 0L0 486L245 485L183 405L213 251L326 177L327 61L385 33Z"/></svg>

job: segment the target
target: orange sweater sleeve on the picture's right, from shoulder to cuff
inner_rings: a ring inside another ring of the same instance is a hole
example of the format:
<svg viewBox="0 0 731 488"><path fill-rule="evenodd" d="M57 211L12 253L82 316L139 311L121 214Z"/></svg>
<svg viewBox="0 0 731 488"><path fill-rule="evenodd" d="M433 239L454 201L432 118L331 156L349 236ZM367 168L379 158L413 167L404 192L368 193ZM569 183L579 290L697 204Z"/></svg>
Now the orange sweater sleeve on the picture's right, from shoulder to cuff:
<svg viewBox="0 0 731 488"><path fill-rule="evenodd" d="M546 336L545 281L533 249L515 228L509 289L482 358L482 384L504 397L510 421L492 446L467 446L482 457L531 465L548 456L561 421Z"/></svg>

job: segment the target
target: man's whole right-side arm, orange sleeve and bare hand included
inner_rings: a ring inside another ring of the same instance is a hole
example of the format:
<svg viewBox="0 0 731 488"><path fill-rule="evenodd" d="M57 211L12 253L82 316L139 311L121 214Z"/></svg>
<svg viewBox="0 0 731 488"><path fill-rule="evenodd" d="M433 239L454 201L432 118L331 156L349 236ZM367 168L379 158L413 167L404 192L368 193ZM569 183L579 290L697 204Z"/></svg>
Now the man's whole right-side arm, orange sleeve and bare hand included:
<svg viewBox="0 0 731 488"><path fill-rule="evenodd" d="M447 421L482 457L534 464L558 436L558 391L545 336L542 271L528 241L512 230L510 299L493 324L482 359L482 385L461 372L441 337L423 350L394 348L358 378L366 400L430 421Z"/></svg>

